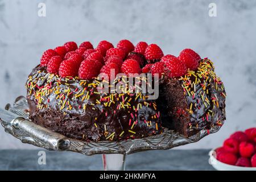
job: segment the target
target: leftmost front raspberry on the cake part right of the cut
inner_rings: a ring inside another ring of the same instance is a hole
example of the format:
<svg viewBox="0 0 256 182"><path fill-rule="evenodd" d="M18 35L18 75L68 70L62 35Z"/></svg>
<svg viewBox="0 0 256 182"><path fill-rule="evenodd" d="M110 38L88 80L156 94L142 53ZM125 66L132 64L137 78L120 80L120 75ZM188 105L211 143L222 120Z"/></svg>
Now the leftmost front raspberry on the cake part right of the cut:
<svg viewBox="0 0 256 182"><path fill-rule="evenodd" d="M188 69L185 64L181 63L180 60L172 57L170 61L166 62L165 72L169 78L180 77L187 73Z"/></svg>

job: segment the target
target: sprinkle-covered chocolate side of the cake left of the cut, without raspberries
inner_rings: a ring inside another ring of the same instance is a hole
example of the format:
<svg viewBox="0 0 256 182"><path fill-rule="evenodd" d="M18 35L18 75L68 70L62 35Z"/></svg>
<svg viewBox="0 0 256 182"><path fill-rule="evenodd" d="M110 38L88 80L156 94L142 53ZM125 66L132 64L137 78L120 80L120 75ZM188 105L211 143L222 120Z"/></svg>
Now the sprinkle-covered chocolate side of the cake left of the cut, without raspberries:
<svg viewBox="0 0 256 182"><path fill-rule="evenodd" d="M26 86L31 121L70 138L119 140L162 131L155 101L142 92L99 93L97 78L60 78L40 66Z"/></svg>

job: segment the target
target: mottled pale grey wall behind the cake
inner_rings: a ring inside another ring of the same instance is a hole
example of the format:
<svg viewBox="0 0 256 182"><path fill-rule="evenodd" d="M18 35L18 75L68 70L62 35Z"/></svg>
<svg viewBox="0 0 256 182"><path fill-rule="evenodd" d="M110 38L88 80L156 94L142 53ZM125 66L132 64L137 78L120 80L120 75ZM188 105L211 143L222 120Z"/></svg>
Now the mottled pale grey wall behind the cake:
<svg viewBox="0 0 256 182"><path fill-rule="evenodd" d="M46 3L46 17L38 3ZM217 5L210 18L208 5ZM236 130L256 126L256 1L0 0L0 107L25 94L24 83L42 52L74 40L156 43L178 55L193 48L214 61L228 97L222 129L180 148L210 148ZM0 127L3 148L34 148Z"/></svg>

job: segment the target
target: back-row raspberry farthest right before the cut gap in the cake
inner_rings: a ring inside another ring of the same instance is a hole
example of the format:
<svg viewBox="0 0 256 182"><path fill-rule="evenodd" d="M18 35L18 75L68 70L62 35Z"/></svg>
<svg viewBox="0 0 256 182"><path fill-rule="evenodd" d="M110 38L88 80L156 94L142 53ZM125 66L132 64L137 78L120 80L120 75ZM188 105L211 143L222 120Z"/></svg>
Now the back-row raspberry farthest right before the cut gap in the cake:
<svg viewBox="0 0 256 182"><path fill-rule="evenodd" d="M156 60L160 60L163 57L163 51L158 45L150 44L144 53L148 63L154 63Z"/></svg>

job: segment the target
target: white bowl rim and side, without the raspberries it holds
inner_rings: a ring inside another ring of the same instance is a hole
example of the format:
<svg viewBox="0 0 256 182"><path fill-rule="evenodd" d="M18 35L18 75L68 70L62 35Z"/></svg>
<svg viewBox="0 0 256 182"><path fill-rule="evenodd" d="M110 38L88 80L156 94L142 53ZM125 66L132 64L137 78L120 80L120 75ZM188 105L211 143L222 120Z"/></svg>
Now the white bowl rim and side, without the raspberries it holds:
<svg viewBox="0 0 256 182"><path fill-rule="evenodd" d="M217 148L209 152L209 164L211 164L218 171L256 171L256 167L240 167L225 164L216 159L216 150Z"/></svg>

